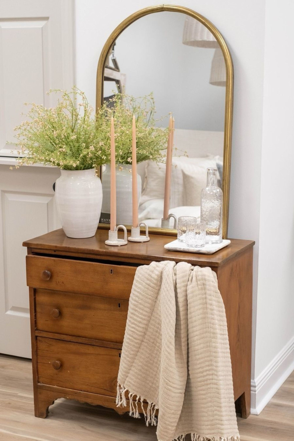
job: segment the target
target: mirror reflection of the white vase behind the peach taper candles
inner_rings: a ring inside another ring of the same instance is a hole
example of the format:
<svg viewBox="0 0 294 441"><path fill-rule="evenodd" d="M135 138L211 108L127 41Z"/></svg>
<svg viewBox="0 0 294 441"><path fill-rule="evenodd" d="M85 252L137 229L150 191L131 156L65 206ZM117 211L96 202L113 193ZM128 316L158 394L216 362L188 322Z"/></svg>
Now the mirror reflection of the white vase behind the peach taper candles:
<svg viewBox="0 0 294 441"><path fill-rule="evenodd" d="M122 167L123 170L119 170ZM132 211L132 166L128 164L118 164L115 169L116 177L116 223L131 225L133 222ZM138 182L138 206L141 198L141 176L137 174ZM110 164L105 166L102 173L103 188L103 213L110 213Z"/></svg>

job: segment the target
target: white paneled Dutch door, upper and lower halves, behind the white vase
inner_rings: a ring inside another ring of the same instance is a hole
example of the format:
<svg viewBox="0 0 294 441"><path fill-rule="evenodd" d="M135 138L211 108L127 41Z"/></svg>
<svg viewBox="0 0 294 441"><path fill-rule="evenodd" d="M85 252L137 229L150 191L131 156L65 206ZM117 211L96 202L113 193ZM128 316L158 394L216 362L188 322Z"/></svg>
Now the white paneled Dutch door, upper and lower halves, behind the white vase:
<svg viewBox="0 0 294 441"><path fill-rule="evenodd" d="M17 156L9 142L23 103L50 107L49 89L74 84L73 7L73 0L0 0L0 164ZM60 228L52 190L59 176L57 168L0 165L0 353L31 356L22 242Z"/></svg>

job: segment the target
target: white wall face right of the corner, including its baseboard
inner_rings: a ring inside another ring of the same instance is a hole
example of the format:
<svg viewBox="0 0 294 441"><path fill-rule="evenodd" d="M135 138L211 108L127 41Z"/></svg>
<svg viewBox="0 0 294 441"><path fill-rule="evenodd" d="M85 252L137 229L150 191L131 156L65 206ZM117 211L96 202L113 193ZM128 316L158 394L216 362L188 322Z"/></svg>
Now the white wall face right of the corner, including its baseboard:
<svg viewBox="0 0 294 441"><path fill-rule="evenodd" d="M294 2L266 1L255 381L257 413L294 369ZM277 38L277 36L279 36Z"/></svg>

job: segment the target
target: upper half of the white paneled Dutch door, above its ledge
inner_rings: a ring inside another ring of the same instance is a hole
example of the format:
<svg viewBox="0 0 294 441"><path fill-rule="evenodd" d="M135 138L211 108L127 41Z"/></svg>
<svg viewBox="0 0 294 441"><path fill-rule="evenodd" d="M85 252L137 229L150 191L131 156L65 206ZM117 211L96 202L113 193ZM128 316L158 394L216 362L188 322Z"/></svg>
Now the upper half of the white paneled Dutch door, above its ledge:
<svg viewBox="0 0 294 441"><path fill-rule="evenodd" d="M25 102L52 106L74 83L74 0L0 0L0 155L11 153Z"/></svg>

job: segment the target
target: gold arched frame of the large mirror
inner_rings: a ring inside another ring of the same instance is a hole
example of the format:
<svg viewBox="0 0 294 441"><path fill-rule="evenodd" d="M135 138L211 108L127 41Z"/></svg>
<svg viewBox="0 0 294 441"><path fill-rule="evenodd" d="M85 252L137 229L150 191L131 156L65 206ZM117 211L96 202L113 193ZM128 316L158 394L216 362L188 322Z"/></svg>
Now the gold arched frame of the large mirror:
<svg viewBox="0 0 294 441"><path fill-rule="evenodd" d="M234 69L231 58L231 53L227 47L227 43L223 36L216 29L216 27L203 15L197 14L192 9L184 6L174 6L168 4L161 4L157 6L149 6L127 17L115 28L106 41L102 52L100 54L97 67L96 80L96 112L103 104L103 86L104 86L104 67L108 58L108 54L112 49L117 37L134 21L144 17L144 15L153 14L154 12L171 11L181 12L182 14L190 15L194 19L201 22L212 35L216 38L220 48L223 52L223 57L226 64L226 98L225 98L225 119L224 119L224 133L223 133L223 239L227 239L227 227L229 220L229 199L230 199L230 174L231 174L231 143L232 143L232 119L233 119L233 85L234 85ZM101 168L100 168L101 173ZM99 228L109 228L108 224L99 224ZM154 228L150 227L149 231L157 234L176 235L177 230Z"/></svg>

